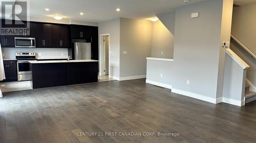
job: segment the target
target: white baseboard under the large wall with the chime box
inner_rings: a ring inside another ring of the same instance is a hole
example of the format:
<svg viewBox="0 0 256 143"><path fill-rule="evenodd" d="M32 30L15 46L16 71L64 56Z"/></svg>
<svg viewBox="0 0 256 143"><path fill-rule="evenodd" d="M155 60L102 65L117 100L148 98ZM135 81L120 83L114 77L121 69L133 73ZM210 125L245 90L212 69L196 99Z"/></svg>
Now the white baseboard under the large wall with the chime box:
<svg viewBox="0 0 256 143"><path fill-rule="evenodd" d="M191 93L191 92L186 92L186 91L182 91L182 90L178 90L178 89L172 89L172 92L180 94L180 95L196 98L196 99L199 99L199 100L203 100L203 101L206 101L206 102L214 103L214 104L217 104L217 100L218 100L218 102L220 103L219 98L218 99L211 98L211 97L207 97L207 96L204 96L204 95Z"/></svg>

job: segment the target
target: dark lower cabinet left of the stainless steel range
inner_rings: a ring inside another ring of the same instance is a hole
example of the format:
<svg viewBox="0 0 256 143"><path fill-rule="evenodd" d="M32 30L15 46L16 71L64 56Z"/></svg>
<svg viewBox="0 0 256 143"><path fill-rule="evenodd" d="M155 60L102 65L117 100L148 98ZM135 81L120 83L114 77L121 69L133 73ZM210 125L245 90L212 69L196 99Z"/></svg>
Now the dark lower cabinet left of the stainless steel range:
<svg viewBox="0 0 256 143"><path fill-rule="evenodd" d="M6 79L3 82L18 81L16 60L4 60L4 68Z"/></svg>

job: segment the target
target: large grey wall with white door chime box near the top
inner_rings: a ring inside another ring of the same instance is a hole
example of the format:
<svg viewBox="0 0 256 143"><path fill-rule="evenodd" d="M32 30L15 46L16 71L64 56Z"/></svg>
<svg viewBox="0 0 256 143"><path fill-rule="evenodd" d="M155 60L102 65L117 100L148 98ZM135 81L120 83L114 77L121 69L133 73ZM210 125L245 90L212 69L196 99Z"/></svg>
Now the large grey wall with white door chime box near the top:
<svg viewBox="0 0 256 143"><path fill-rule="evenodd" d="M176 9L174 89L216 98L222 4L204 1ZM193 12L200 16L191 18Z"/></svg>

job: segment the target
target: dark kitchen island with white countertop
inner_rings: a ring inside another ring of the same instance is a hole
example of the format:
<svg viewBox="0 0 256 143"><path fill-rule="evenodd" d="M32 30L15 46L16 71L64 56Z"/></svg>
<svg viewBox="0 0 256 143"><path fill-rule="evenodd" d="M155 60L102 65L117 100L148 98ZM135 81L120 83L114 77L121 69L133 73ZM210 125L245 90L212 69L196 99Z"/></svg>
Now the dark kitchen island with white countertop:
<svg viewBox="0 0 256 143"><path fill-rule="evenodd" d="M98 82L98 61L31 61L33 89Z"/></svg>

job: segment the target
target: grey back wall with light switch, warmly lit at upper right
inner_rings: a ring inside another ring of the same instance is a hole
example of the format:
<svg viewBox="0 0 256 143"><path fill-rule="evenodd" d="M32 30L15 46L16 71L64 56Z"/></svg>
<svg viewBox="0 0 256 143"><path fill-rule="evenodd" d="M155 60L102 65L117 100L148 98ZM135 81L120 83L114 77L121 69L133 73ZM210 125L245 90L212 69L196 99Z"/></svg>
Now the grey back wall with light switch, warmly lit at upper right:
<svg viewBox="0 0 256 143"><path fill-rule="evenodd" d="M151 40L151 21L120 18L120 77L146 75Z"/></svg>

